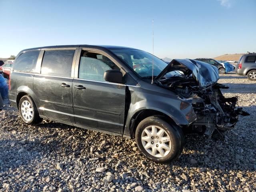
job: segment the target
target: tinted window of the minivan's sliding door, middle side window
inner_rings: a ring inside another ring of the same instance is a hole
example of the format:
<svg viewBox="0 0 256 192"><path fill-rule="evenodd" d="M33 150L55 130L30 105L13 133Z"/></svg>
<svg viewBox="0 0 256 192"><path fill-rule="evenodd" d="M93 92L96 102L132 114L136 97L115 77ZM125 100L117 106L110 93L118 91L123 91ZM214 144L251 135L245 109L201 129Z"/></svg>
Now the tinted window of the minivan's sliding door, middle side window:
<svg viewBox="0 0 256 192"><path fill-rule="evenodd" d="M75 50L49 50L44 52L41 74L70 77Z"/></svg>

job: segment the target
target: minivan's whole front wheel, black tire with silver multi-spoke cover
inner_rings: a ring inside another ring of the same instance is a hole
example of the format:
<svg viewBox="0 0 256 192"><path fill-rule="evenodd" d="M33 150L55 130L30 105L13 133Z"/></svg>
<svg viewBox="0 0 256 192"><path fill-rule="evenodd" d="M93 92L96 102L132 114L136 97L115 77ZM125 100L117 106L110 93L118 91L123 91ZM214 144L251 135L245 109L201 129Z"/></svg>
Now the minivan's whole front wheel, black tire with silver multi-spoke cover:
<svg viewBox="0 0 256 192"><path fill-rule="evenodd" d="M158 163L170 162L180 156L184 135L175 124L168 124L159 116L150 116L136 129L136 143L146 158Z"/></svg>

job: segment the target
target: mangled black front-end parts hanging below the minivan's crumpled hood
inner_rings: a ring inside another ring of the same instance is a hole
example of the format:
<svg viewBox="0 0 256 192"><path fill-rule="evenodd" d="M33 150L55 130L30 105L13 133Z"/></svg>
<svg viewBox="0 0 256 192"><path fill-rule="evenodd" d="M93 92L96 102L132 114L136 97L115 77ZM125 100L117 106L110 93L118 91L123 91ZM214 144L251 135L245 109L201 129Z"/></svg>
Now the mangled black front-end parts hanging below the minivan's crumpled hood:
<svg viewBox="0 0 256 192"><path fill-rule="evenodd" d="M238 97L225 98L220 91L221 88L228 87L217 83L206 90L194 91L204 99L193 104L196 121L192 124L192 129L196 132L204 133L206 136L212 136L214 132L221 134L234 128L238 115L249 115L242 108L236 108Z"/></svg>

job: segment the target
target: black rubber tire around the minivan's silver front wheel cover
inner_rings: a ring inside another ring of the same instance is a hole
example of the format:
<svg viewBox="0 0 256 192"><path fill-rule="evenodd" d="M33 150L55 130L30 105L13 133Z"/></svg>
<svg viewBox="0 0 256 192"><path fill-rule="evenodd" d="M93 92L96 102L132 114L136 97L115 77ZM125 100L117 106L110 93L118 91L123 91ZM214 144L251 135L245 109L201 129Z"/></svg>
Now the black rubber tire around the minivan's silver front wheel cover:
<svg viewBox="0 0 256 192"><path fill-rule="evenodd" d="M170 140L171 140L171 150L170 152L164 156L164 157L155 157L152 156L150 153L148 153L146 151L146 149L144 148L143 144L142 144L142 132L143 130L148 127L148 126L158 126L160 128L162 128L163 130L166 131L166 133L168 134L168 136L170 136ZM177 159L180 154L183 151L183 146L184 146L184 134L182 133L182 130L180 127L178 127L176 124L172 123L169 124L168 122L166 122L163 118L161 118L160 116L150 116L144 120L142 120L136 129L135 132L135 139L136 139L136 143L138 146L138 149L140 150L140 152L142 152L142 154L157 163L166 163L166 162L171 162L172 160Z"/></svg>

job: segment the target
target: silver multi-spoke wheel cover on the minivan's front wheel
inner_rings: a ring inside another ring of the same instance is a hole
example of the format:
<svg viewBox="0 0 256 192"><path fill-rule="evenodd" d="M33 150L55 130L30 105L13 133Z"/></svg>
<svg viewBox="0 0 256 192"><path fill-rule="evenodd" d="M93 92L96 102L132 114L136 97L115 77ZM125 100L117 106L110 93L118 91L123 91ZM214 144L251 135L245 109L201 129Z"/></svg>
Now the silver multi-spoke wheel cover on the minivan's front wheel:
<svg viewBox="0 0 256 192"><path fill-rule="evenodd" d="M142 131L141 141L144 149L154 157L164 157L172 148L167 132L159 126L148 126Z"/></svg>

